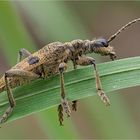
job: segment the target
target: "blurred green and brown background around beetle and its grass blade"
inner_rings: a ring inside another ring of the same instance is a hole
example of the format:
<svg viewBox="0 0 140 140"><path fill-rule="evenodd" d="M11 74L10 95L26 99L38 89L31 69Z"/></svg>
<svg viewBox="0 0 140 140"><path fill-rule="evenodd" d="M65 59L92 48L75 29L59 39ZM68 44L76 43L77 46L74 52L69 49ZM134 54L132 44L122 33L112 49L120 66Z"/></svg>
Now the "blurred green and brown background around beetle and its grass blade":
<svg viewBox="0 0 140 140"><path fill-rule="evenodd" d="M140 2L0 1L0 73L16 64L20 48L33 52L54 41L108 38L139 16ZM117 59L140 55L139 37L138 23L116 38L111 44ZM93 56L98 63L110 61ZM0 139L139 139L139 91L134 87L110 94L110 107L98 96L82 99L64 127L57 108L30 115L5 124Z"/></svg>

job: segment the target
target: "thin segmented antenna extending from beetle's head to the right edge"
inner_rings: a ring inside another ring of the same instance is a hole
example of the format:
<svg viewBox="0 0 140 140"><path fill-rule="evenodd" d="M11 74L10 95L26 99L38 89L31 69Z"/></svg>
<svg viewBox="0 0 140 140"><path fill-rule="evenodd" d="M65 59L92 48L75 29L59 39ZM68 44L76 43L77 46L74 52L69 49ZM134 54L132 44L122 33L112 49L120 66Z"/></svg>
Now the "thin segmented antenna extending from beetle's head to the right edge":
<svg viewBox="0 0 140 140"><path fill-rule="evenodd" d="M111 35L107 42L110 43L113 39L115 39L122 31L124 31L125 29L127 29L129 26L131 26L132 24L136 23L137 21L140 21L140 18L134 19L130 22L128 22L126 25L124 25L122 28L120 28L115 34Z"/></svg>

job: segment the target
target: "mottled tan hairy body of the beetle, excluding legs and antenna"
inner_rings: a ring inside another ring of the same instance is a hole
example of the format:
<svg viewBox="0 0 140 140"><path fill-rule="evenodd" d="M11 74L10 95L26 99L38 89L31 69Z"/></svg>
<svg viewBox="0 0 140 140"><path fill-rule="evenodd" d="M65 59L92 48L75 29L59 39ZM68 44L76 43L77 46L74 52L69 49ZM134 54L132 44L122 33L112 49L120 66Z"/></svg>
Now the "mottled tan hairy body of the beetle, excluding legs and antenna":
<svg viewBox="0 0 140 140"><path fill-rule="evenodd" d="M91 43L92 42L92 43ZM93 43L94 42L94 43ZM113 52L113 47L99 47L96 46L94 41L89 40L74 40L72 42L61 43L54 42L46 45L39 51L30 54L26 58L21 58L22 61L18 62L17 65L12 67L10 70L26 70L29 72L36 73L37 77L30 77L31 80L36 78L47 78L52 75L59 73L59 64L61 62L67 63L67 61L72 60L73 62L78 60L78 57L83 54L88 53L100 53L101 55L112 55L115 54ZM92 45L95 45L92 47ZM21 49L22 51L22 49ZM31 61L34 61L33 63ZM85 64L86 65L86 64ZM8 72L8 71L7 71ZM22 76L23 77L23 76ZM20 77L12 76L9 78L11 88L17 87L23 83L20 80ZM25 76L26 81L26 76ZM6 84L4 80L4 75L0 79L0 92L4 89L6 90Z"/></svg>

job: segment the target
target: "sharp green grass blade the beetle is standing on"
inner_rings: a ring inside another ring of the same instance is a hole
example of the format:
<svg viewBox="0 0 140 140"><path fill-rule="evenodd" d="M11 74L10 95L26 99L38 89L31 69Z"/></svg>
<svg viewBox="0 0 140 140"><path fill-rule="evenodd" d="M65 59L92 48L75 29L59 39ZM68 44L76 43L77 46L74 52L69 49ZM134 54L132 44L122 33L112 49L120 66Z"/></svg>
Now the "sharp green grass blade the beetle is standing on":
<svg viewBox="0 0 140 140"><path fill-rule="evenodd" d="M105 92L140 85L140 57L127 58L98 65ZM68 100L81 99L96 94L93 68L86 67L65 74ZM37 80L18 87L14 91L17 106L9 121L30 115L60 103L59 76ZM5 95L1 94L0 113L8 106ZM112 103L113 104L113 103Z"/></svg>

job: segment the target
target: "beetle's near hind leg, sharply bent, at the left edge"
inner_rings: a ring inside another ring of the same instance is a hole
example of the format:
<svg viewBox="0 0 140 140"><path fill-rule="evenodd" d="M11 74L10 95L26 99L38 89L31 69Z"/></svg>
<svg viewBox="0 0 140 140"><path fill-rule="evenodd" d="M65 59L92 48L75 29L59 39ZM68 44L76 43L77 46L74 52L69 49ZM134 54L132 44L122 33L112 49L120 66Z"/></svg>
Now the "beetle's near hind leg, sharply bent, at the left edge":
<svg viewBox="0 0 140 140"><path fill-rule="evenodd" d="M20 69L11 69L5 73L5 83L6 83L6 90L7 90L7 96L9 100L10 106L6 109L2 117L0 118L0 123L3 123L7 120L7 118L11 115L16 102L12 93L12 89L9 84L9 78L39 78L39 75L33 73L33 72L28 72L25 70L20 70Z"/></svg>

